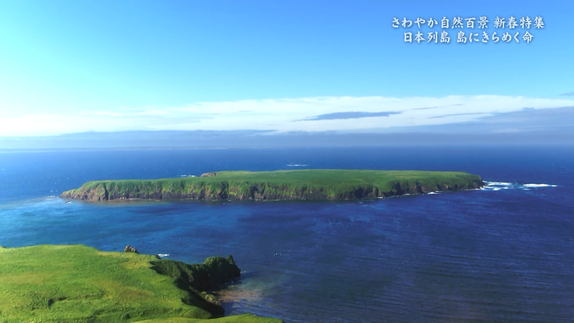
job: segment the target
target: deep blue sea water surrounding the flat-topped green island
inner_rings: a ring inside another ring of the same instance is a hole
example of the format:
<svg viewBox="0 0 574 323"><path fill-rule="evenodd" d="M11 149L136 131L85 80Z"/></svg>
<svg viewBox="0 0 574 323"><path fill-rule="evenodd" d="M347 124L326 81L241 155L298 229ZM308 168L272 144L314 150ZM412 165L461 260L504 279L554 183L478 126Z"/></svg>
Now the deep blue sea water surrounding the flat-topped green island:
<svg viewBox="0 0 574 323"><path fill-rule="evenodd" d="M66 204L50 197L96 179L293 168L466 171L498 184L375 201ZM572 147L11 152L0 153L0 169L0 245L121 251L131 244L191 263L232 254L243 274L220 293L226 314L285 322L574 321Z"/></svg>

